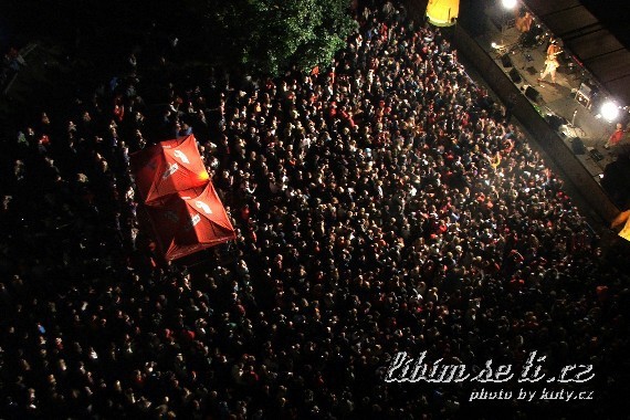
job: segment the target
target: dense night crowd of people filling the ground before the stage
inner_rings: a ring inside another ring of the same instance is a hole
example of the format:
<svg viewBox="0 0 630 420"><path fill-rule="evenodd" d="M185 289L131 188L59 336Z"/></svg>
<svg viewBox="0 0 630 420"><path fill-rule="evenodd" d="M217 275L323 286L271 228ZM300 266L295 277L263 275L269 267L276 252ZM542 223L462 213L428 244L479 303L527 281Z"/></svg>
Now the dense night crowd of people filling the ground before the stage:
<svg viewBox="0 0 630 420"><path fill-rule="evenodd" d="M6 418L616 412L627 275L439 29L390 3L359 22L309 74L176 82L134 55L73 114L17 135L0 212ZM129 155L188 134L238 240L167 263ZM567 387L596 400L385 381L396 354L424 350L475 371L533 350L548 372L592 365Z"/></svg>

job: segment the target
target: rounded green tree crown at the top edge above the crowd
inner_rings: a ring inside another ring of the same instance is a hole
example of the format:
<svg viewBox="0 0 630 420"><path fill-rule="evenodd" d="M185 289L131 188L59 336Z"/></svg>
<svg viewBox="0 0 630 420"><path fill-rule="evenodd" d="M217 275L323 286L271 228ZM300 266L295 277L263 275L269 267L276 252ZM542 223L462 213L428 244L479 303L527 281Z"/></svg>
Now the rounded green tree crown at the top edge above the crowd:
<svg viewBox="0 0 630 420"><path fill-rule="evenodd" d="M330 62L356 22L348 0L207 2L210 42L229 63L279 74Z"/></svg>

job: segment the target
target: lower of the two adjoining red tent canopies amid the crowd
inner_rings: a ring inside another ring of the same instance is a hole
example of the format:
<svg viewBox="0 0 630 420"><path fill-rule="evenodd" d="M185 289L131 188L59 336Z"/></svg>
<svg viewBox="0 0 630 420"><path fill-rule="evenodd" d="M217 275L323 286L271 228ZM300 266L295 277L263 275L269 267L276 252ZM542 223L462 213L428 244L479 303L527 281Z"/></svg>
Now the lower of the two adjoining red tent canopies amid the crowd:
<svg viewBox="0 0 630 420"><path fill-rule="evenodd" d="M235 238L234 228L211 182L206 188L172 195L162 206L147 206L146 209L167 260Z"/></svg>

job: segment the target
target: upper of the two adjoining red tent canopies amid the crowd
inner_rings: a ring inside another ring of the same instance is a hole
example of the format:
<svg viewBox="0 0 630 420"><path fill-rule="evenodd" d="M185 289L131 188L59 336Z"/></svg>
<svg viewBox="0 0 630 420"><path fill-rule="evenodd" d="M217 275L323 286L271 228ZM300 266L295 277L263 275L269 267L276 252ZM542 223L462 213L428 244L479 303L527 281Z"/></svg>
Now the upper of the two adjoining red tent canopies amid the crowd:
<svg viewBox="0 0 630 420"><path fill-rule="evenodd" d="M210 178L192 135L161 141L130 158L138 191L149 206L159 206L178 191L203 187Z"/></svg>

